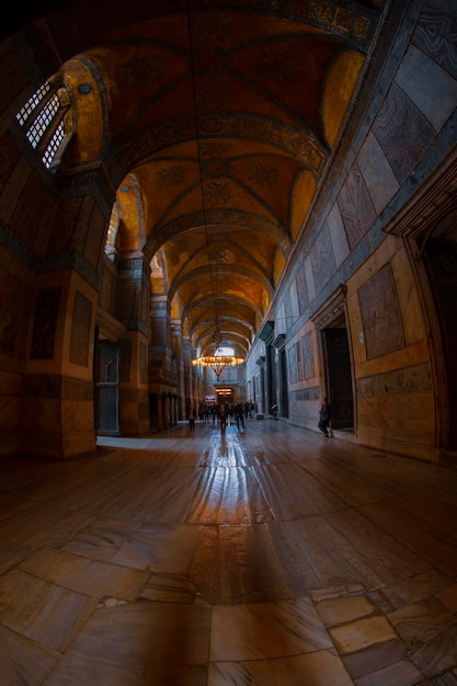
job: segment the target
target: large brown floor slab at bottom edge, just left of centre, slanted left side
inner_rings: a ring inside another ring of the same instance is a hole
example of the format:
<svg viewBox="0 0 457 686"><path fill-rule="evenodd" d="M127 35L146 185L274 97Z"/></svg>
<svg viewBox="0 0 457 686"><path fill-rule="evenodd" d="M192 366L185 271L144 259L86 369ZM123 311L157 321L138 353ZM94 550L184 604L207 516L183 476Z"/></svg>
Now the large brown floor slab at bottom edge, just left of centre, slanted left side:
<svg viewBox="0 0 457 686"><path fill-rule="evenodd" d="M44 686L206 686L210 618L147 601L95 610Z"/></svg>

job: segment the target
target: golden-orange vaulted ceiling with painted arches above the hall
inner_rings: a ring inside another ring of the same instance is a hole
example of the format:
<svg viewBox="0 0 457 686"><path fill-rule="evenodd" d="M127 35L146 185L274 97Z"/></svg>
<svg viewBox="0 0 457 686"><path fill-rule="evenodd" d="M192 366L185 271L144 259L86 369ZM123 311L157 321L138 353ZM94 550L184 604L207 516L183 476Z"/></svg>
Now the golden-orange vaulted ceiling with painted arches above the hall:
<svg viewBox="0 0 457 686"><path fill-rule="evenodd" d="M103 161L117 251L145 252L204 354L249 351L381 4L92 0L45 15L77 108L66 168Z"/></svg>

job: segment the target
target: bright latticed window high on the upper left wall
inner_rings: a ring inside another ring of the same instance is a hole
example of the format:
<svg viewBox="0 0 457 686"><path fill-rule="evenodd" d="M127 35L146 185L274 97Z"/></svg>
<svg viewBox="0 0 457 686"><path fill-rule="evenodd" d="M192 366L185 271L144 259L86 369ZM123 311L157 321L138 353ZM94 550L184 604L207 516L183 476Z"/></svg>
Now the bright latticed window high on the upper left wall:
<svg viewBox="0 0 457 686"><path fill-rule="evenodd" d="M64 88L53 89L46 81L16 114L32 148L49 169L65 138L65 114L70 100Z"/></svg>

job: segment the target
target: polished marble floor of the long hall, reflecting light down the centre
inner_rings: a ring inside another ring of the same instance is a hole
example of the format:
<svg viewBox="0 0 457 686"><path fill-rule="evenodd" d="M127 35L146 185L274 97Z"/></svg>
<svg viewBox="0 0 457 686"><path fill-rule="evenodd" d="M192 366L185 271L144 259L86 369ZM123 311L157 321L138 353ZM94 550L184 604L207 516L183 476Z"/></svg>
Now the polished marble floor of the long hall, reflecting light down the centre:
<svg viewBox="0 0 457 686"><path fill-rule="evenodd" d="M247 420L0 460L0 686L457 684L457 469Z"/></svg>

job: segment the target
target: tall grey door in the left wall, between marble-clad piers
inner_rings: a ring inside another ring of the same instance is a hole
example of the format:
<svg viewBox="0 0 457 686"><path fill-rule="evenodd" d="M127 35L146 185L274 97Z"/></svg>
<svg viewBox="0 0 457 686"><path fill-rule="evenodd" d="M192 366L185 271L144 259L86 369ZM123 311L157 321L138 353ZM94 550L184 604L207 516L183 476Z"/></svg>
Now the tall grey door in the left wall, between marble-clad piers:
<svg viewBox="0 0 457 686"><path fill-rule="evenodd" d="M119 345L99 341L95 358L95 431L119 435Z"/></svg>

